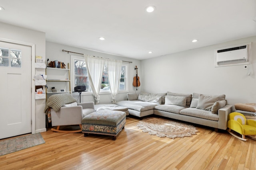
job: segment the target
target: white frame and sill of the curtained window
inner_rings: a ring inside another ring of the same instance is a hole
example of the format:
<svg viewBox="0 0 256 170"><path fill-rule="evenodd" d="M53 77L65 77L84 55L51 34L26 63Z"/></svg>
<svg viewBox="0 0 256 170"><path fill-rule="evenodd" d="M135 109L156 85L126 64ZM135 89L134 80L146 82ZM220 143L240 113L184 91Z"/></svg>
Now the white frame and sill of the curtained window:
<svg viewBox="0 0 256 170"><path fill-rule="evenodd" d="M75 87L75 84L74 84L74 77L75 77L75 72L74 72L74 61L75 60L81 60L81 61L85 61L84 57L80 57L80 56L75 56L75 55L71 55L71 64L70 64L70 73L71 73L71 76L70 76L70 81L71 81L71 88L72 88L72 91L74 92L74 87ZM122 63L122 66L125 66L126 67L126 72L125 72L125 81L126 81L126 90L119 90L118 93L128 93L128 89L129 89L129 82L128 82L128 69L129 69L129 65L126 64L126 63ZM88 90L88 92L82 92L82 94L92 94L91 91ZM102 90L100 89L100 94L111 94L110 90Z"/></svg>

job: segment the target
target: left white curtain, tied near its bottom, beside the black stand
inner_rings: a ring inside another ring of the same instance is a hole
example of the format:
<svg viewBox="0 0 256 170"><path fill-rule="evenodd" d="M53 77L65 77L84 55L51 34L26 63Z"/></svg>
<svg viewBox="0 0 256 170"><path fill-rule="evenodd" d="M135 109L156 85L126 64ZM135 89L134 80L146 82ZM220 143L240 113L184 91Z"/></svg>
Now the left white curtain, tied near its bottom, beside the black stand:
<svg viewBox="0 0 256 170"><path fill-rule="evenodd" d="M100 57L93 57L90 55L84 55L84 58L89 77L89 84L92 89L92 95L94 96L95 104L99 104L99 93L106 59L102 59Z"/></svg>

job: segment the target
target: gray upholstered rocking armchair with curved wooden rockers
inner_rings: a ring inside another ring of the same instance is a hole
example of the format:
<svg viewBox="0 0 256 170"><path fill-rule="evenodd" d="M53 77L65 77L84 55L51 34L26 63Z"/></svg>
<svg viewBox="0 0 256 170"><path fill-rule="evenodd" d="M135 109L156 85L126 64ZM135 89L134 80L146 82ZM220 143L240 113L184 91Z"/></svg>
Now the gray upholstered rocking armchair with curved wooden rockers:
<svg viewBox="0 0 256 170"><path fill-rule="evenodd" d="M52 117L52 131L65 132L65 133L76 133L82 131L82 118L90 113L94 112L94 102L78 103L77 106L74 104L67 104L61 107L59 111L51 109ZM60 129L60 126L71 126L79 125L80 129L65 130Z"/></svg>

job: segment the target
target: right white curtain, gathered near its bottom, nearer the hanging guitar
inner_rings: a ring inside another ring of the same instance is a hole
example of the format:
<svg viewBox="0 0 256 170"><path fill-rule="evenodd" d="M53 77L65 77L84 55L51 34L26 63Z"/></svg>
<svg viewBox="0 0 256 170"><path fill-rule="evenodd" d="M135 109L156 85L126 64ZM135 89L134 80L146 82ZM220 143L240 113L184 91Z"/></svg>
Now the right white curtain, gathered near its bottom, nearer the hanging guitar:
<svg viewBox="0 0 256 170"><path fill-rule="evenodd" d="M107 59L108 68L108 82L110 86L110 92L112 94L112 103L116 103L116 95L118 94L120 76L121 76L121 60Z"/></svg>

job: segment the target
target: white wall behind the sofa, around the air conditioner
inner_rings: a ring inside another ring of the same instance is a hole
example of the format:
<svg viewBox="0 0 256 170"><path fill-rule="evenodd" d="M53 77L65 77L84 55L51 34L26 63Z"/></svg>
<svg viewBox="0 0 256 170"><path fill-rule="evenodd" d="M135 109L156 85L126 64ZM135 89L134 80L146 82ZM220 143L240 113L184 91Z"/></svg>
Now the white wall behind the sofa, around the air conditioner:
<svg viewBox="0 0 256 170"><path fill-rule="evenodd" d="M215 49L248 42L252 42L250 76L243 65L214 67ZM146 92L226 94L231 105L256 102L256 37L146 59L141 67L141 90Z"/></svg>

